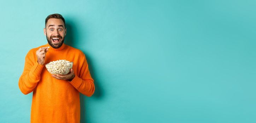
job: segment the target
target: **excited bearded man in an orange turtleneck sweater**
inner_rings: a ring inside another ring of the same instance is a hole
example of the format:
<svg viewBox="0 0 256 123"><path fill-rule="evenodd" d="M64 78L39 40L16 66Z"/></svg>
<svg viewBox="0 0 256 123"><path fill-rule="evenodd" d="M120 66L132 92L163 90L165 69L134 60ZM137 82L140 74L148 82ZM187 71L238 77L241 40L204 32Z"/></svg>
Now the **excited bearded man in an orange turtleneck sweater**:
<svg viewBox="0 0 256 123"><path fill-rule="evenodd" d="M18 83L25 95L33 91L31 123L80 123L79 92L90 97L95 90L85 54L64 44L62 15L49 15L43 30L48 44L28 52ZM45 64L59 59L74 62L68 75L51 75L46 70Z"/></svg>

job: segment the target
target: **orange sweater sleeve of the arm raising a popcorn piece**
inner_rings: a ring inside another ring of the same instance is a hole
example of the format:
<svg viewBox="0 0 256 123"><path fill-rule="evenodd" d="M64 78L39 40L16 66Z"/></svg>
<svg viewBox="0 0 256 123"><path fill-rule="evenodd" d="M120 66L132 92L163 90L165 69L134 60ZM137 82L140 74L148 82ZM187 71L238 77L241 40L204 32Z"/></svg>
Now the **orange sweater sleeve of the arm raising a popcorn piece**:
<svg viewBox="0 0 256 123"><path fill-rule="evenodd" d="M32 92L40 80L40 74L43 65L37 63L33 57L33 52L29 51L25 57L25 66L21 77L19 78L19 89L27 95Z"/></svg>

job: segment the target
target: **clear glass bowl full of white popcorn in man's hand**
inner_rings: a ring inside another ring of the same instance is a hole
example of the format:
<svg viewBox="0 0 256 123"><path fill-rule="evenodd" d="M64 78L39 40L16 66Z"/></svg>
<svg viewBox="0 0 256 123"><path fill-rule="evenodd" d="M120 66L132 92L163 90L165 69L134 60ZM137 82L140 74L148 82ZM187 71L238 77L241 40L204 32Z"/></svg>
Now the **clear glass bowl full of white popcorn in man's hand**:
<svg viewBox="0 0 256 123"><path fill-rule="evenodd" d="M73 62L68 60L52 61L45 65L47 71L52 75L67 75L73 66Z"/></svg>

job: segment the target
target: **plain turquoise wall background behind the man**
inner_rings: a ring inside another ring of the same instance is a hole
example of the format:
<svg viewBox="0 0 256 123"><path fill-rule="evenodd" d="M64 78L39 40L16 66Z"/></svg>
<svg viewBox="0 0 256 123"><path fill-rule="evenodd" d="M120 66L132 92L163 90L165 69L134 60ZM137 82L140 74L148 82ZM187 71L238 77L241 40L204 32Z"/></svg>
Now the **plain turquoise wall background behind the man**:
<svg viewBox="0 0 256 123"><path fill-rule="evenodd" d="M81 123L255 123L256 1L0 1L0 122L30 122L18 79L47 43L47 15L66 19L95 80Z"/></svg>

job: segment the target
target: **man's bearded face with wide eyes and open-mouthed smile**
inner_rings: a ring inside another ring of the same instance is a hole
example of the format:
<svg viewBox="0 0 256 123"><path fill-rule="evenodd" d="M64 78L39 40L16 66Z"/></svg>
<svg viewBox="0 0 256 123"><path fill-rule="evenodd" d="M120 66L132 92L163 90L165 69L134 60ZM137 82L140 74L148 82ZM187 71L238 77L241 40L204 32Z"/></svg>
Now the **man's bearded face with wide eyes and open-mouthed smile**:
<svg viewBox="0 0 256 123"><path fill-rule="evenodd" d="M62 19L50 18L43 31L46 35L48 43L53 48L62 46L65 40L66 28Z"/></svg>

